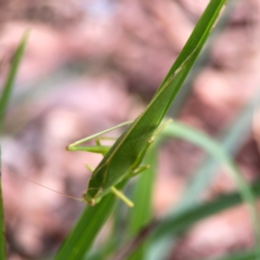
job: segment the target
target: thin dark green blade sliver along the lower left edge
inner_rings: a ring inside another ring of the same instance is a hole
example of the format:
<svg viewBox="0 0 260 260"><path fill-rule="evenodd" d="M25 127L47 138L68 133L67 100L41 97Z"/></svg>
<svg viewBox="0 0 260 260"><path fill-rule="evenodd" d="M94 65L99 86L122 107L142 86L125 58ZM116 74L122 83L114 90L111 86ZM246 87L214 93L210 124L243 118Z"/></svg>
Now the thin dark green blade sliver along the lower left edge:
<svg viewBox="0 0 260 260"><path fill-rule="evenodd" d="M1 156L1 147L0 147L0 259L6 259L5 256L5 233L4 233L4 216L3 216L3 199L2 199L2 156Z"/></svg>

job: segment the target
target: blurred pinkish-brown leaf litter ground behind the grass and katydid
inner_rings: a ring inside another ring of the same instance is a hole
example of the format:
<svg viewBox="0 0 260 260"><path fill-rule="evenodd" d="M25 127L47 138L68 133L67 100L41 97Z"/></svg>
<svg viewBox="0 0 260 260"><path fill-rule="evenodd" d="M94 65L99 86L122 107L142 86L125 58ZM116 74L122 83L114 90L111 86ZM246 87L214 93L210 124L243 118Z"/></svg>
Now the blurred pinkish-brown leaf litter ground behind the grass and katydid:
<svg viewBox="0 0 260 260"><path fill-rule="evenodd" d="M0 82L23 32L30 30L10 104L3 151L3 195L10 259L39 259L57 249L84 205L29 183L80 197L88 161L99 155L68 153L70 142L135 118L181 51L206 0L0 1ZM181 102L178 117L218 136L260 86L260 1L238 0L204 68ZM173 113L172 113L173 114ZM177 112L176 112L177 114ZM259 120L237 160L248 180L259 174ZM249 126L250 127L250 126ZM251 128L251 127L250 127ZM120 129L114 132L120 133ZM176 141L161 150L155 214L177 203L203 158ZM223 173L207 197L234 188ZM209 233L209 229L216 232ZM202 259L252 244L244 207L196 225L171 259Z"/></svg>

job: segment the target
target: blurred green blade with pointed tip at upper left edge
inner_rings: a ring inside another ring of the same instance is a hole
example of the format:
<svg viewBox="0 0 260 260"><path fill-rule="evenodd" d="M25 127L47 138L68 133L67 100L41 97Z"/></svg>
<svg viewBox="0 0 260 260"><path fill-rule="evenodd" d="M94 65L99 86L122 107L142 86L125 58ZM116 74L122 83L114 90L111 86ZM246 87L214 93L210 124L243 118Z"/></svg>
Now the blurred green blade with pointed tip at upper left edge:
<svg viewBox="0 0 260 260"><path fill-rule="evenodd" d="M14 87L14 80L24 54L27 38L28 38L28 31L24 34L17 49L15 50L15 53L13 55L11 66L8 73L8 77L3 86L2 94L0 98L0 132L2 132L2 129L3 129L3 120L6 113L6 107L10 102L10 98Z"/></svg>

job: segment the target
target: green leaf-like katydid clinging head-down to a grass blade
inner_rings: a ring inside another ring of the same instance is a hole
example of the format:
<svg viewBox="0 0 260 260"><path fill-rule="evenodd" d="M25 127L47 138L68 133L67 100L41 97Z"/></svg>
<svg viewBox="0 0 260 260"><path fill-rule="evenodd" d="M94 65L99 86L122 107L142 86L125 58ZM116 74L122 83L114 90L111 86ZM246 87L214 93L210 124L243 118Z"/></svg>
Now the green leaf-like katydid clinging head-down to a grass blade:
<svg viewBox="0 0 260 260"><path fill-rule="evenodd" d="M199 51L199 47L193 50L179 68L162 82L146 109L134 121L120 123L67 146L68 151L86 151L104 155L102 161L94 170L88 166L92 171L92 176L89 180L88 190L82 195L83 200L88 205L94 206L103 196L113 192L128 206L133 206L132 202L120 191L116 190L115 185L148 168L148 166L140 166L142 159L153 143L154 138L168 123L166 121L160 125L179 90L174 88L176 83L180 84L184 80L184 74L191 69ZM96 146L78 146L126 125L130 125L129 128L117 139L112 147L101 145L100 140L96 141Z"/></svg>

